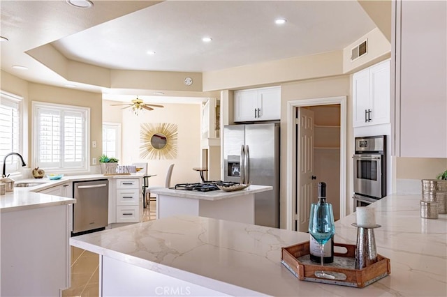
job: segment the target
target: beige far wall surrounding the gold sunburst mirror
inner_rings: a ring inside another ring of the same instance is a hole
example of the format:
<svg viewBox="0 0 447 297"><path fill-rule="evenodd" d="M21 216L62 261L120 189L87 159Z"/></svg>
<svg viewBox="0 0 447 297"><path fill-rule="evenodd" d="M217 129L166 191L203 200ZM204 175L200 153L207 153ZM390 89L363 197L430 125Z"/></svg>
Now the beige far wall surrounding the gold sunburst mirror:
<svg viewBox="0 0 447 297"><path fill-rule="evenodd" d="M147 162L148 173L157 174L150 178L150 185L164 185L166 171L174 163L171 185L176 183L196 183L200 181L198 172L193 167L200 167L200 104L163 104L136 116L129 109L112 107L119 102L104 101L103 118L108 122L122 123L122 160L120 164ZM177 158L174 160L147 160L140 158L140 124L141 123L175 123L177 124Z"/></svg>

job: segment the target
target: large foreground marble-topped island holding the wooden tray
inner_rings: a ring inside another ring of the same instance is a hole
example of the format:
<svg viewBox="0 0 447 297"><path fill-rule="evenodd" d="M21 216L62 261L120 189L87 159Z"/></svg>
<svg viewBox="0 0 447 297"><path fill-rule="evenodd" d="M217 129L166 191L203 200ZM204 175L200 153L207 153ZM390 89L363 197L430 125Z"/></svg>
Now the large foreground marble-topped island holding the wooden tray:
<svg viewBox="0 0 447 297"><path fill-rule="evenodd" d="M71 238L100 255L102 296L446 296L447 215L419 215L420 195L390 195L376 208L379 254L391 274L363 289L298 280L281 247L309 240L284 229L177 216ZM335 241L356 243L356 214Z"/></svg>

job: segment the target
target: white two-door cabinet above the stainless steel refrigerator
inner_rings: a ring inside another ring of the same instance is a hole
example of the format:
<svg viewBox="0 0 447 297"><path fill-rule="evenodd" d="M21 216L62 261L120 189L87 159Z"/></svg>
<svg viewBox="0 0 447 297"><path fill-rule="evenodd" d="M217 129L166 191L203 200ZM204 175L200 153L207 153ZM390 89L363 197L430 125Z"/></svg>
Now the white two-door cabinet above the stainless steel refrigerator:
<svg viewBox="0 0 447 297"><path fill-rule="evenodd" d="M281 87L235 91L235 122L281 119Z"/></svg>

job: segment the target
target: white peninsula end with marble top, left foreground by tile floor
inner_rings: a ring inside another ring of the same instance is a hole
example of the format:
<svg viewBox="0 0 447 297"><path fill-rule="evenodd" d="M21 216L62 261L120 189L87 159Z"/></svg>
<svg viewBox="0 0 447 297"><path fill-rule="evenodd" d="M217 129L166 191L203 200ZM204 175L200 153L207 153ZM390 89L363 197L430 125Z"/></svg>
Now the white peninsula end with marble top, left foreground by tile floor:
<svg viewBox="0 0 447 297"><path fill-rule="evenodd" d="M26 188L0 196L1 296L59 296L69 287L75 201Z"/></svg>

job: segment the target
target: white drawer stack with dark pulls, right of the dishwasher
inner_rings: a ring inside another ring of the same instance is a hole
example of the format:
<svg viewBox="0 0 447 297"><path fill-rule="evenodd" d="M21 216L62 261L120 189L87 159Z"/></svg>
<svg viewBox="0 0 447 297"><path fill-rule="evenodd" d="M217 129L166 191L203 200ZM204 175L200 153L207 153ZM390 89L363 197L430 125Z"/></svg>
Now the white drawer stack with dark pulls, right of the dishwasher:
<svg viewBox="0 0 447 297"><path fill-rule="evenodd" d="M140 221L140 178L117 179L116 222Z"/></svg>

